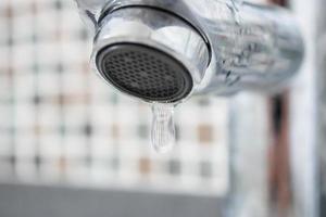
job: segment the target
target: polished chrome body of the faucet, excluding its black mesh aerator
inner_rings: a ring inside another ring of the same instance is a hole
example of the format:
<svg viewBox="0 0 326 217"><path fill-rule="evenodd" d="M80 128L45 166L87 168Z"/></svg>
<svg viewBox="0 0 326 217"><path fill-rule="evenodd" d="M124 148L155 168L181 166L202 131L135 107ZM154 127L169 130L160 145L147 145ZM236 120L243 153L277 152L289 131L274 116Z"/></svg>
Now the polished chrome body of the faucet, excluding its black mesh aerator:
<svg viewBox="0 0 326 217"><path fill-rule="evenodd" d="M96 30L93 56L99 48L116 41L160 48L191 71L193 93L278 90L303 58L296 22L277 7L243 2L238 11L226 0L76 1ZM149 8L168 13L160 15L163 12Z"/></svg>

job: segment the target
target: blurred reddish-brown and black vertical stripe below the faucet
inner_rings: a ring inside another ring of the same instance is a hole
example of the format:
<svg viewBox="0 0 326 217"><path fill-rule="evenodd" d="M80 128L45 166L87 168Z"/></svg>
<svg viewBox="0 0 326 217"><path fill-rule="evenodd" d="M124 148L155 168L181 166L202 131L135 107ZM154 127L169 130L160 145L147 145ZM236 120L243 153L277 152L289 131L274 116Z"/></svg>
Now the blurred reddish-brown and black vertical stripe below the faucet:
<svg viewBox="0 0 326 217"><path fill-rule="evenodd" d="M269 0L286 7L287 0ZM289 102L288 90L269 99L273 140L269 149L269 208L271 216L290 216L292 192L290 183Z"/></svg>

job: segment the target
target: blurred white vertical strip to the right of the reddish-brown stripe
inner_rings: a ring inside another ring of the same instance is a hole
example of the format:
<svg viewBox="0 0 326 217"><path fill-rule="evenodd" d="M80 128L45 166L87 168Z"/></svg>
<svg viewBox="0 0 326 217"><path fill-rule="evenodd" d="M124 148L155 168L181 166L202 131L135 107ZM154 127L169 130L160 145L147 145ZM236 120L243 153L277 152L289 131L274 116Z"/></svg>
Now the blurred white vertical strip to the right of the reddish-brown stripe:
<svg viewBox="0 0 326 217"><path fill-rule="evenodd" d="M305 38L305 61L290 92L290 153L294 216L316 217L319 214L315 41L317 39L317 9L325 9L325 1L292 0L290 3L298 14Z"/></svg>

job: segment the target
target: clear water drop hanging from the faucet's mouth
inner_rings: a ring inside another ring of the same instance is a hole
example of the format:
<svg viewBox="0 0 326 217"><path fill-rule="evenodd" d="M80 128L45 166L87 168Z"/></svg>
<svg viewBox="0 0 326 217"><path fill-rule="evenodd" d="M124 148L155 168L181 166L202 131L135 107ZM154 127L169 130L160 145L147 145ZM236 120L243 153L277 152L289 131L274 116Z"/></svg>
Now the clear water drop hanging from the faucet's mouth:
<svg viewBox="0 0 326 217"><path fill-rule="evenodd" d="M156 152L168 152L175 144L174 105L154 103L152 113L152 146Z"/></svg>

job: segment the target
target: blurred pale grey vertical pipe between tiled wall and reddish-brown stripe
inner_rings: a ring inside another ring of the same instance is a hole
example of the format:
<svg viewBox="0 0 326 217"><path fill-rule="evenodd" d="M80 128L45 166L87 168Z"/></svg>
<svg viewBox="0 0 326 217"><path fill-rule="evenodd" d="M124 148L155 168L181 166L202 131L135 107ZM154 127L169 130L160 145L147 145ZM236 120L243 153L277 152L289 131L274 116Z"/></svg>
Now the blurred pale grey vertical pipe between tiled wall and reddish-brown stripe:
<svg viewBox="0 0 326 217"><path fill-rule="evenodd" d="M248 92L230 102L229 217L268 216L267 106L264 95Z"/></svg>

